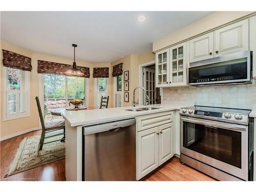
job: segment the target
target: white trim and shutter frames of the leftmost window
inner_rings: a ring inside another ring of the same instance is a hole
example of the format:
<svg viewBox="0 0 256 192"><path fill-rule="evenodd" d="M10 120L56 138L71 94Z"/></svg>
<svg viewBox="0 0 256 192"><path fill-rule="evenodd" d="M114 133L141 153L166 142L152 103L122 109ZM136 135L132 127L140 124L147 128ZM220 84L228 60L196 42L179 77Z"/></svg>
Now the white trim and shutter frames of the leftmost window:
<svg viewBox="0 0 256 192"><path fill-rule="evenodd" d="M26 93L26 98L25 98L25 112L24 113L18 113L18 109L16 114L9 115L8 114L8 104L7 104L7 94L9 92L20 92L20 91L9 91L8 90L8 75L7 75L7 67L3 68L3 121L8 121L8 120L13 120L13 119L19 119L19 118L24 118L30 116L30 72L29 71L24 71L22 70L23 73L23 78L22 78L22 83L23 84L23 89L22 92ZM18 99L17 99L18 100ZM16 106L18 106L18 101L16 101Z"/></svg>

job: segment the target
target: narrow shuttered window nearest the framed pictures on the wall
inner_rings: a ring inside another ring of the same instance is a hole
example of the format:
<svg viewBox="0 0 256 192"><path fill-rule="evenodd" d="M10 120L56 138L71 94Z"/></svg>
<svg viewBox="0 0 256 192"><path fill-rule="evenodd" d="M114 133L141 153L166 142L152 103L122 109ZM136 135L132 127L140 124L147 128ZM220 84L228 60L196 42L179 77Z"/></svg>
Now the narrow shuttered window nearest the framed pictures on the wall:
<svg viewBox="0 0 256 192"><path fill-rule="evenodd" d="M122 106L122 75L114 77L114 104L115 108Z"/></svg>

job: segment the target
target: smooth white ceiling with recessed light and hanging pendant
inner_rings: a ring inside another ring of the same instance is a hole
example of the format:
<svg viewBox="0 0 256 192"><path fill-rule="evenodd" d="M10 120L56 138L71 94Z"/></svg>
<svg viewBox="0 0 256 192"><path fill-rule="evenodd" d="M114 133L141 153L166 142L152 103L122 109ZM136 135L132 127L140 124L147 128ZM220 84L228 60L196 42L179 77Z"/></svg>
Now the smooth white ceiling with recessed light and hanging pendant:
<svg viewBox="0 0 256 192"><path fill-rule="evenodd" d="M154 12L1 12L1 40L25 49L111 62L152 50L152 42L211 14L201 11ZM145 15L139 23L137 17Z"/></svg>

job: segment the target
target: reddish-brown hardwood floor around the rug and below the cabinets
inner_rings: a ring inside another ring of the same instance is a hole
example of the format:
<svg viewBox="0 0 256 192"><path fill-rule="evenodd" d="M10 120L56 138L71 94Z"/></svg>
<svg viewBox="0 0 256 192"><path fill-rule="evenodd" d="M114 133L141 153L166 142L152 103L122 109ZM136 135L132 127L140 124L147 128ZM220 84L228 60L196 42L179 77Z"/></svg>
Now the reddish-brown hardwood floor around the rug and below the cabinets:
<svg viewBox="0 0 256 192"><path fill-rule="evenodd" d="M6 181L65 181L65 159L42 165L4 178L24 137L40 135L40 131L26 133L0 142L0 179ZM158 167L142 181L215 181L196 169L182 165L177 157Z"/></svg>

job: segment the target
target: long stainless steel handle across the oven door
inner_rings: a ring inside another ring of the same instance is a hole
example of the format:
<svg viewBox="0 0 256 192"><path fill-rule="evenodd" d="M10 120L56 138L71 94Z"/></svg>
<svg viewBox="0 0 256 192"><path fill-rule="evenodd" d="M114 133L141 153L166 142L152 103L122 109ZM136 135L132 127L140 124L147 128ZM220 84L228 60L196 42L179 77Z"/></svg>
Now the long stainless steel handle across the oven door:
<svg viewBox="0 0 256 192"><path fill-rule="evenodd" d="M238 124L233 124L231 125L227 125L224 123L215 123L215 122L209 122L209 121L204 121L204 120L197 120L197 119L190 119L190 118L184 118L181 117L181 120L187 121L187 122L191 122L191 123L198 123L198 124L203 124L205 126L210 126L210 127L217 127L217 128L222 128L222 129L226 129L226 130L241 130L241 131L246 131L246 127L245 125L238 125Z"/></svg>

